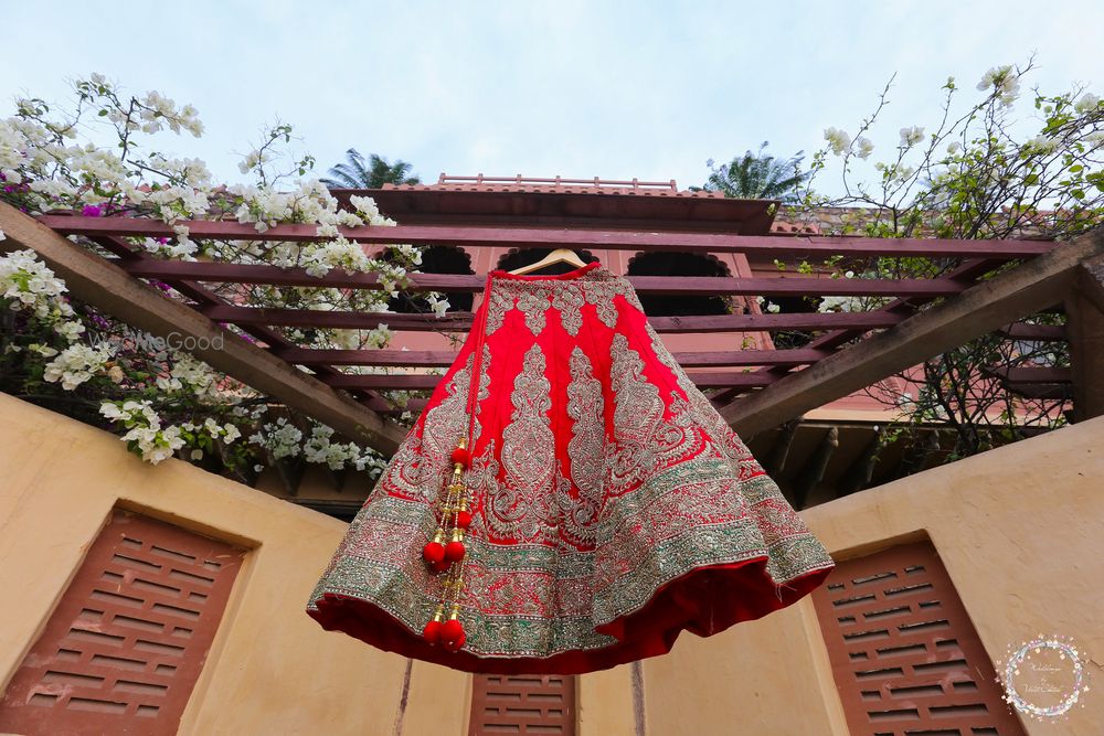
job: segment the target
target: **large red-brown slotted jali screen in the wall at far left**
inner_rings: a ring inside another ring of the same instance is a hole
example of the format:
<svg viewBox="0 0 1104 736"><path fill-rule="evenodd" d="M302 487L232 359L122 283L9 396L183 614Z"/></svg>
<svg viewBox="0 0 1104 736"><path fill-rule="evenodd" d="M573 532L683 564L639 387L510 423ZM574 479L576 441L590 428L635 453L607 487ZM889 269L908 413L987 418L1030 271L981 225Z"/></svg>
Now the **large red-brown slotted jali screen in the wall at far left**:
<svg viewBox="0 0 1104 736"><path fill-rule="evenodd" d="M0 701L0 732L176 734L245 551L116 511Z"/></svg>

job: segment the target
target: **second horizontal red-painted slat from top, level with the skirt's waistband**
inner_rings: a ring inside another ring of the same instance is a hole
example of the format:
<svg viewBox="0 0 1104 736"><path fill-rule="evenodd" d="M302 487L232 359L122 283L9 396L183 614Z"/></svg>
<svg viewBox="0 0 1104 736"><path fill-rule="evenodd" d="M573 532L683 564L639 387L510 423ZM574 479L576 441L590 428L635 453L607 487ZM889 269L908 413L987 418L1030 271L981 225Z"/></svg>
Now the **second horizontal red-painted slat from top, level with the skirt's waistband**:
<svg viewBox="0 0 1104 736"><path fill-rule="evenodd" d="M346 274L331 270L325 277L309 275L302 268L191 263L181 260L119 262L131 276L140 278L191 279L223 284L268 284L273 286L314 286L331 288L379 289L375 274ZM966 288L944 279L839 279L839 278L735 278L731 276L629 276L639 294L664 296L880 296L947 297ZM412 274L410 291L482 291L486 278L463 274Z"/></svg>

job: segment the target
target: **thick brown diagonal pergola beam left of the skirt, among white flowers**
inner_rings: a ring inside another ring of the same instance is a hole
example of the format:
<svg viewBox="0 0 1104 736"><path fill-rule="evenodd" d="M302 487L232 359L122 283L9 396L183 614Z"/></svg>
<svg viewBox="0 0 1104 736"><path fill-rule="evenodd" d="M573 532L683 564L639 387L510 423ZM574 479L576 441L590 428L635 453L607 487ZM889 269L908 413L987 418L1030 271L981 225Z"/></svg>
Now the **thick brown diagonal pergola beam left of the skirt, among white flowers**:
<svg viewBox="0 0 1104 736"><path fill-rule="evenodd" d="M406 433L353 398L251 345L185 305L166 299L118 266L75 245L11 205L0 203L6 253L34 250L77 299L95 305L150 334L192 338L192 353L212 367L322 422L350 439L392 455Z"/></svg>

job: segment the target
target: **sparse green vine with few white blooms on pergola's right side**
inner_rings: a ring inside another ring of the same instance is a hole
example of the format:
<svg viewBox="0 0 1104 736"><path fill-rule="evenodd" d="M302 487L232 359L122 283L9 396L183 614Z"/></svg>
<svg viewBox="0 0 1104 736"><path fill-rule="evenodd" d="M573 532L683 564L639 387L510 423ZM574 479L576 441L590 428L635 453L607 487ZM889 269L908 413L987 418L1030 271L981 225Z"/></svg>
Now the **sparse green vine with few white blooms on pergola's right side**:
<svg viewBox="0 0 1104 736"><path fill-rule="evenodd" d="M891 79L873 113L851 132L824 130L825 145L803 180L802 205L783 216L816 225L826 235L888 238L1069 239L1098 227L1104 224L1104 104L1083 85L1058 94L1032 88L1026 96L1032 70L1033 60L994 66L975 85L979 94L965 103L963 88L949 77L935 119L880 138ZM885 142L875 148L873 140ZM875 150L882 158L868 160ZM826 184L829 173L838 177ZM825 188L834 193L816 191ZM835 220L826 222L826 214ZM962 265L963 259L953 257L882 256L835 257L797 268L835 278L884 279L933 278ZM1002 264L980 278L1015 265ZM860 311L884 306L888 299L811 301L808 307L819 311ZM1058 326L1065 317L1043 312L1025 321ZM788 337L786 346L810 338ZM1007 369L1069 365L1065 343L994 333L924 361L870 393L902 412L902 433L933 422L947 427L955 439L949 457L957 458L1061 426L1069 408L1064 396L1018 395L995 376ZM902 382L913 386L915 395L902 397Z"/></svg>

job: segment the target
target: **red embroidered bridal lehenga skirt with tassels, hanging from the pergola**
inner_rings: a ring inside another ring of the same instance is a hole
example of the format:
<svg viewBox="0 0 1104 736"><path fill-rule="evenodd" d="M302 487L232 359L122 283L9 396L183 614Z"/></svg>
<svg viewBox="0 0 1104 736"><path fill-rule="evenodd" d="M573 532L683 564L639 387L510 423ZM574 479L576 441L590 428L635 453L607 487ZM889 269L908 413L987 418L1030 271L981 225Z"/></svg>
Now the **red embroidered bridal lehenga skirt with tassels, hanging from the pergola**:
<svg viewBox="0 0 1104 736"><path fill-rule="evenodd" d="M578 674L789 606L832 564L626 279L493 271L307 611L457 670Z"/></svg>

